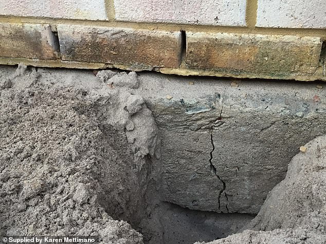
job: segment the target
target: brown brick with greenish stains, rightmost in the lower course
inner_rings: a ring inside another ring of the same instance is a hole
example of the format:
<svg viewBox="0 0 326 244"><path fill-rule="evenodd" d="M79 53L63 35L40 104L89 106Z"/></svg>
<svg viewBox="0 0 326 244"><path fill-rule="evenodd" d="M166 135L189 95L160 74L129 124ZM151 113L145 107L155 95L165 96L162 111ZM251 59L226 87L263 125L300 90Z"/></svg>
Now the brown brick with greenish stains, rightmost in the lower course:
<svg viewBox="0 0 326 244"><path fill-rule="evenodd" d="M318 37L187 33L186 66L257 77L310 75L321 44Z"/></svg>

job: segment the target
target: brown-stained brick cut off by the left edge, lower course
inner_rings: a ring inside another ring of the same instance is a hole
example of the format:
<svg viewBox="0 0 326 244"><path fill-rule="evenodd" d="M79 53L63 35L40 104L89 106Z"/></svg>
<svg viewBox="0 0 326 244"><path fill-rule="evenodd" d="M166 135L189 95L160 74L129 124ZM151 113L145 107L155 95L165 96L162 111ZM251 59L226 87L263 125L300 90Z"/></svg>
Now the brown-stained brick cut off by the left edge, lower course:
<svg viewBox="0 0 326 244"><path fill-rule="evenodd" d="M49 25L0 24L0 57L56 59L58 49Z"/></svg>

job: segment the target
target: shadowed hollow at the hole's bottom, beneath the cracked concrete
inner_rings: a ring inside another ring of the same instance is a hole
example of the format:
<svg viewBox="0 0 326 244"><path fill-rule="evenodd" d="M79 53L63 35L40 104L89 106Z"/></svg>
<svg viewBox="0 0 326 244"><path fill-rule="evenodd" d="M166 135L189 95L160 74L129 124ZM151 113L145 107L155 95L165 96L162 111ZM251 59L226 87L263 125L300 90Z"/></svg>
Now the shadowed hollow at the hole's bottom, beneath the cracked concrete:
<svg viewBox="0 0 326 244"><path fill-rule="evenodd" d="M190 210L160 202L138 227L145 243L212 241L238 232L255 216Z"/></svg>

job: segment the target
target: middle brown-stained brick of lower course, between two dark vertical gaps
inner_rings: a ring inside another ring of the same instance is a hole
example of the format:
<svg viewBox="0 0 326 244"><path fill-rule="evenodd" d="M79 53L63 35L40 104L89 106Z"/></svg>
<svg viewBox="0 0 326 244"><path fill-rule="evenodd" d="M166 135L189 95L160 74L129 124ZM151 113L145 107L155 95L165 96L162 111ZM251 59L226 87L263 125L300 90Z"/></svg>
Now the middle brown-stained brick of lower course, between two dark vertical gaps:
<svg viewBox="0 0 326 244"><path fill-rule="evenodd" d="M125 65L134 69L176 68L180 32L58 25L63 60Z"/></svg>

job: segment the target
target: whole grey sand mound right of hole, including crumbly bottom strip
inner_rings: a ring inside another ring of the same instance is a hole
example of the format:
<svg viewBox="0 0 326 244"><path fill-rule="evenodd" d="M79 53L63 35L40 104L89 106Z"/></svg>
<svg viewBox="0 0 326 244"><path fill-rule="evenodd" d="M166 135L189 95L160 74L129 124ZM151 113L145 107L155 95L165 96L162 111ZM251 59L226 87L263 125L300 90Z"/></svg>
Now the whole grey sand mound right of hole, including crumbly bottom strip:
<svg viewBox="0 0 326 244"><path fill-rule="evenodd" d="M326 243L326 136L304 145L244 231L210 243Z"/></svg>

